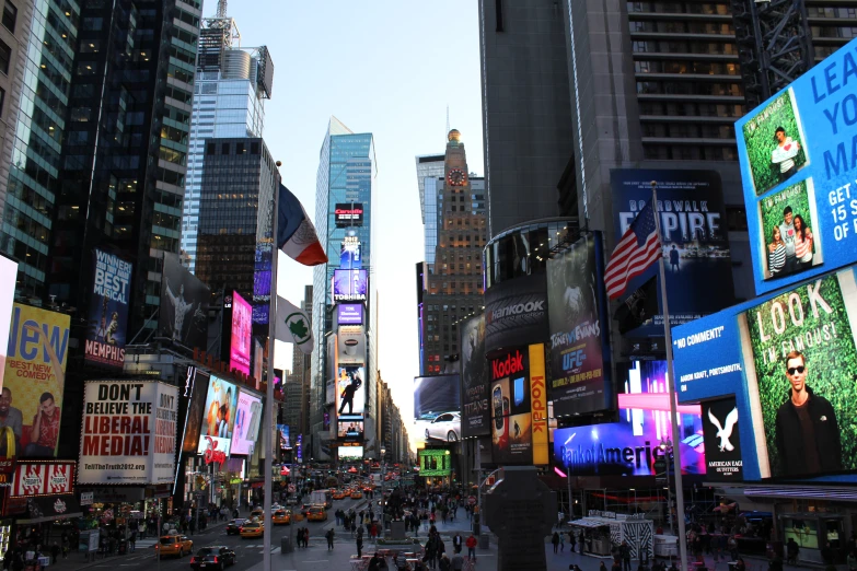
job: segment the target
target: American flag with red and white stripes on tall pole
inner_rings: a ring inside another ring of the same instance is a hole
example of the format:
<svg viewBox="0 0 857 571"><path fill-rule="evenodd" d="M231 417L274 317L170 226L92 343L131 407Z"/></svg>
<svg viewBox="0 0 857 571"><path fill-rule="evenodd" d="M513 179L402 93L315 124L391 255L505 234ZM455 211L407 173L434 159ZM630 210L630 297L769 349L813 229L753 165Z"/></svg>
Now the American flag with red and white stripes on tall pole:
<svg viewBox="0 0 857 571"><path fill-rule="evenodd" d="M660 256L661 241L655 225L655 210L649 202L622 235L610 256L604 270L607 296L613 300L625 293L628 281L646 271Z"/></svg>

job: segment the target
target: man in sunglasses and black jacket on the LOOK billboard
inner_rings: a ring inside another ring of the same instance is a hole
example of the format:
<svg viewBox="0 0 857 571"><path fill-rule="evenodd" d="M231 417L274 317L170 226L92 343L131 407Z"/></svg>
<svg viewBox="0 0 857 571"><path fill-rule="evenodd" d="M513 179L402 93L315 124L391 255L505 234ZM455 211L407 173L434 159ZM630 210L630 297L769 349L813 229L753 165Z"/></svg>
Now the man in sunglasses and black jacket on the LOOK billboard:
<svg viewBox="0 0 857 571"><path fill-rule="evenodd" d="M836 412L826 398L807 386L808 370L800 351L786 356L786 377L791 388L776 418L776 444L783 474L772 476L807 476L842 469Z"/></svg>

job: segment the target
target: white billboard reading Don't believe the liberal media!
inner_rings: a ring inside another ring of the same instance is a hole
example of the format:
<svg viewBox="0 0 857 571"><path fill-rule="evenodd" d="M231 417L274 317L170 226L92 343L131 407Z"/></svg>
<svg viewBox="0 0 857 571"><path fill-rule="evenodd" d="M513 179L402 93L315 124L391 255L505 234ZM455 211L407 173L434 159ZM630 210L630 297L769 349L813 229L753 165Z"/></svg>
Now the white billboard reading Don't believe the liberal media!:
<svg viewBox="0 0 857 571"><path fill-rule="evenodd" d="M159 381L86 381L79 483L175 480L178 388Z"/></svg>

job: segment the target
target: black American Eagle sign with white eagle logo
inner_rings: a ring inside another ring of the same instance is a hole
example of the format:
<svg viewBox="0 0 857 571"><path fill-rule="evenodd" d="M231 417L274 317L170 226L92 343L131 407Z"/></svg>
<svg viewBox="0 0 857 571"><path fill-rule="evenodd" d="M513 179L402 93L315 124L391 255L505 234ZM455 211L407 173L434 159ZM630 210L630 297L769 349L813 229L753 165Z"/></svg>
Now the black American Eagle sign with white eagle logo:
<svg viewBox="0 0 857 571"><path fill-rule="evenodd" d="M741 435L734 395L703 403L705 476L711 481L743 481Z"/></svg>

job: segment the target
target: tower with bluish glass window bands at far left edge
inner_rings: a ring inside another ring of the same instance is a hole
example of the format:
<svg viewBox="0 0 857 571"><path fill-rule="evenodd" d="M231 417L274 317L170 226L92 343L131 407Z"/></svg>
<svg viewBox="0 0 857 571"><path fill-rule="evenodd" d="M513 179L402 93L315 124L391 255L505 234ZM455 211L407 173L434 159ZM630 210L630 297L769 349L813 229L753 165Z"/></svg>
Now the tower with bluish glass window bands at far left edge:
<svg viewBox="0 0 857 571"><path fill-rule="evenodd" d="M18 8L15 37L19 27L22 32L24 27L32 28L32 33L25 45L15 46L11 38L3 40L10 48L10 57L24 55L24 66L13 68L15 60L10 60L9 72L23 73L21 100L26 103L18 110L11 101L3 104L2 117L10 125L7 143L14 148L8 176L0 183L4 202L0 249L19 263L16 298L37 304L47 294L50 233L60 194L60 145L80 11L77 3L58 0L40 2L28 11L23 2L5 2L4 21L10 5Z"/></svg>

